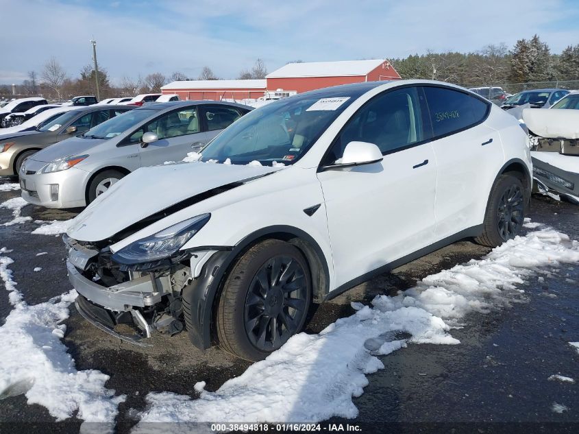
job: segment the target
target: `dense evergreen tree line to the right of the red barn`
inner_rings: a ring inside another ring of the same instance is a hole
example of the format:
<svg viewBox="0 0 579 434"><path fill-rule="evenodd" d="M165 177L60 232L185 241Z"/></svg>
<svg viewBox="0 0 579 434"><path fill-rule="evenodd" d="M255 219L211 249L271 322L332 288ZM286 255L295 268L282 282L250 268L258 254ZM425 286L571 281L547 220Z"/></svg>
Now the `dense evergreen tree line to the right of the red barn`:
<svg viewBox="0 0 579 434"><path fill-rule="evenodd" d="M391 60L402 78L453 82L463 86L579 80L579 44L553 54L538 35L472 53L428 52Z"/></svg>

